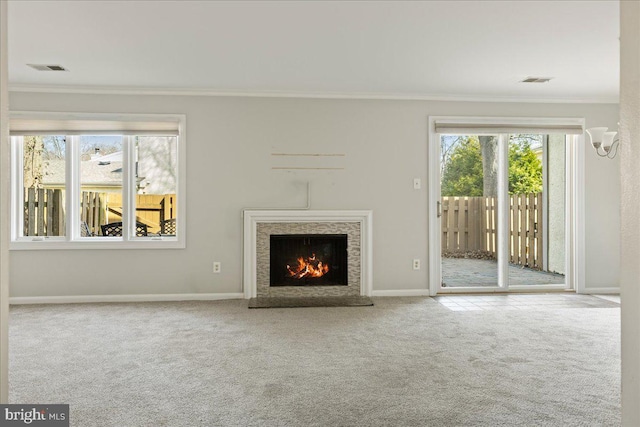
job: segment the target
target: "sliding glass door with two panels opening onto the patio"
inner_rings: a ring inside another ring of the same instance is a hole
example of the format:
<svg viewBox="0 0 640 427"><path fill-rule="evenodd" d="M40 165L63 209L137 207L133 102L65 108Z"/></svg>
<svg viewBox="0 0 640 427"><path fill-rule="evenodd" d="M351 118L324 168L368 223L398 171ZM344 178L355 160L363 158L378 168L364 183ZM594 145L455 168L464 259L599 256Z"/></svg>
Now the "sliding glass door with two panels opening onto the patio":
<svg viewBox="0 0 640 427"><path fill-rule="evenodd" d="M565 135L439 137L439 289L564 286Z"/></svg>

